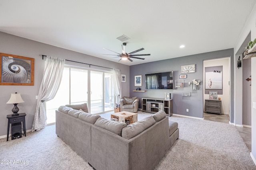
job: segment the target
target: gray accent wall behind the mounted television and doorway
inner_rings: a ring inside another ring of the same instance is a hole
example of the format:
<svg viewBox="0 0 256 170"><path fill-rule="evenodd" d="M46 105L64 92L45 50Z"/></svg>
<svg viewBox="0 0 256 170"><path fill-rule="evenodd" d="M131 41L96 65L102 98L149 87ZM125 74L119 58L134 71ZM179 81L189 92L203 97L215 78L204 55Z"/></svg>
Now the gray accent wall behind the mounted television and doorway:
<svg viewBox="0 0 256 170"><path fill-rule="evenodd" d="M130 66L130 96L137 96L138 98L150 97L150 98L164 98L164 92L172 93L172 111L175 114L187 115L192 117L203 118L203 82L201 82L198 90L191 90L188 82L193 79L203 80L203 61L209 59L217 59L222 57L231 57L231 86L234 84L234 51L233 49L226 49L221 51L214 51L209 53L202 53L197 55L190 55L185 57L179 57L174 59L167 59L162 61L155 61L150 63L138 64ZM145 74L153 72L168 72L174 71L174 80L179 80L180 66L196 64L196 72L188 73L187 78L184 80L184 88L175 88L174 90L163 89L147 89L146 92L132 92L136 90L134 86L134 76L142 75L142 87L141 90L145 90ZM191 92L190 97L182 96L182 92ZM234 91L231 91L234 93ZM232 98L231 98L232 99ZM234 100L231 103L234 103ZM233 104L234 105L234 104ZM140 106L141 107L141 106ZM186 109L189 109L186 112ZM234 110L234 109L233 109ZM231 115L234 117L234 113L231 109Z"/></svg>

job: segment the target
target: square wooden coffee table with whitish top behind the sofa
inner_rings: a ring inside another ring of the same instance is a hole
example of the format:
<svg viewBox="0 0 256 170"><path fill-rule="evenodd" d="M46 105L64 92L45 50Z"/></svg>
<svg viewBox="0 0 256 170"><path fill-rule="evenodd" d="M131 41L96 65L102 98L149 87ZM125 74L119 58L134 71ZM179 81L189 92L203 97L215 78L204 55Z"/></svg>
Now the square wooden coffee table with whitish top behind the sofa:
<svg viewBox="0 0 256 170"><path fill-rule="evenodd" d="M138 114L129 111L120 111L118 113L112 113L110 118L112 121L120 121L129 125L138 121Z"/></svg>

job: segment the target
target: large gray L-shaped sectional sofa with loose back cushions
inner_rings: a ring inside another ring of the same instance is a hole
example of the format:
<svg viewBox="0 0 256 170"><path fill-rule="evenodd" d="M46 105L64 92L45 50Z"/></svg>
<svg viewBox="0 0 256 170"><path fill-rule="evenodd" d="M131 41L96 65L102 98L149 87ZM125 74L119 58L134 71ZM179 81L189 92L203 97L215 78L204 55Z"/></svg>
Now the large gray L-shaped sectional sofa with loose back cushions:
<svg viewBox="0 0 256 170"><path fill-rule="evenodd" d="M126 125L85 106L60 106L56 134L96 170L151 170L179 137L178 123L164 111Z"/></svg>

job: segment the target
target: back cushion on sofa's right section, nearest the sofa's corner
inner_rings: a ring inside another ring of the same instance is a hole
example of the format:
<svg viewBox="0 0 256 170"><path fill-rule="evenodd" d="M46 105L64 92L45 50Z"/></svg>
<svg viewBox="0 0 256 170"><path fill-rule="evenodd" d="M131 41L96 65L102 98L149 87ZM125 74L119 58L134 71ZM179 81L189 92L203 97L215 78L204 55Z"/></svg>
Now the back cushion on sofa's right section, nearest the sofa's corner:
<svg viewBox="0 0 256 170"><path fill-rule="evenodd" d="M131 139L132 137L140 134L142 131L154 125L155 123L156 121L152 116L141 119L140 121L124 127L124 129L122 130L122 137L124 137L125 139Z"/></svg>

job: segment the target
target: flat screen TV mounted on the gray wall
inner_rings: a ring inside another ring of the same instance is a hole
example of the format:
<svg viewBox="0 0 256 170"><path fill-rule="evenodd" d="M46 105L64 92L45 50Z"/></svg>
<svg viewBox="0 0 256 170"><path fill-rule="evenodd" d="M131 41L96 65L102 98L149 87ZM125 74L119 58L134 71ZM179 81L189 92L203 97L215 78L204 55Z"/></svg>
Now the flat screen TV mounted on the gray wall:
<svg viewBox="0 0 256 170"><path fill-rule="evenodd" d="M145 74L146 89L173 89L173 71Z"/></svg>

